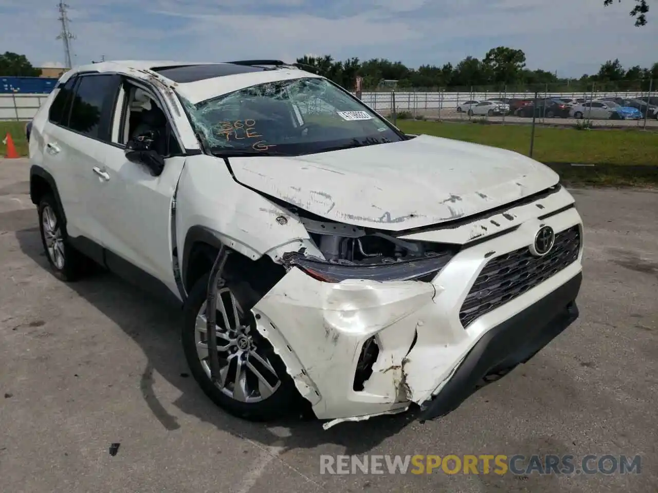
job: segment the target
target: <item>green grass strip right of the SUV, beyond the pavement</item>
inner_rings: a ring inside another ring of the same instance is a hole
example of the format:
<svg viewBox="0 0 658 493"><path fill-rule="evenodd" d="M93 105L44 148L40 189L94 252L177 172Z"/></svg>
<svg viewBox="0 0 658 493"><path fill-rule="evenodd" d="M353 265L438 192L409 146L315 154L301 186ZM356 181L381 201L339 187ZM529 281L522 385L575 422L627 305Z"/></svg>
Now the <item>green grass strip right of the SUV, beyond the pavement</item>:
<svg viewBox="0 0 658 493"><path fill-rule="evenodd" d="M526 125L398 120L407 133L426 133L528 155L532 128ZM532 157L542 162L652 164L658 166L658 132L639 129L576 130L536 127Z"/></svg>

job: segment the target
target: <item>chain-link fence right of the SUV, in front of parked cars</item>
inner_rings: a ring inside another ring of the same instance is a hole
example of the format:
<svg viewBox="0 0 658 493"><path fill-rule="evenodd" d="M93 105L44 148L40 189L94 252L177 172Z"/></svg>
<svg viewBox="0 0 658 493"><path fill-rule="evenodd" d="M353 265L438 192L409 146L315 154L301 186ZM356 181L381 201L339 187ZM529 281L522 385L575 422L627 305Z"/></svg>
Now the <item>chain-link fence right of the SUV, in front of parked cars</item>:
<svg viewBox="0 0 658 493"><path fill-rule="evenodd" d="M380 114L428 120L484 120L501 124L658 128L658 81L590 83L572 87L382 88L361 99Z"/></svg>

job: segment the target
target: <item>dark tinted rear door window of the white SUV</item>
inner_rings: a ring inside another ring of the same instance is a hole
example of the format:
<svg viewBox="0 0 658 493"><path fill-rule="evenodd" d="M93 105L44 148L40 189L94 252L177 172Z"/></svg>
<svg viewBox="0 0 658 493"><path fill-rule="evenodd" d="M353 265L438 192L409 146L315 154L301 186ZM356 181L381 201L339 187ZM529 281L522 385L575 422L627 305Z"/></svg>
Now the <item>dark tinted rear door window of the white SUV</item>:
<svg viewBox="0 0 658 493"><path fill-rule="evenodd" d="M99 126L103 113L103 102L110 93L114 93L117 89L116 77L112 74L82 76L73 99L68 128L94 139L101 137Z"/></svg>

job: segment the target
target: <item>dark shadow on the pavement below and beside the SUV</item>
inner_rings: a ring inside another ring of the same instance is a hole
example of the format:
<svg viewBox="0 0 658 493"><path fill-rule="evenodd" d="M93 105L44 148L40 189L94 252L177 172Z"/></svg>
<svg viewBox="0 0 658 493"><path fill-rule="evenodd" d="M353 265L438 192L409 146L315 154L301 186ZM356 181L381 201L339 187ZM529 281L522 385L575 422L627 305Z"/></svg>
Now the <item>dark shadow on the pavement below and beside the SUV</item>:
<svg viewBox="0 0 658 493"><path fill-rule="evenodd" d="M38 227L16 231L16 239L26 256L44 270L50 271ZM172 404L182 412L240 438L284 450L336 444L343 446L344 453L348 455L367 454L389 436L399 433L416 417L416 413L410 411L359 423L341 423L327 431L322 429L321 422L315 418L291 417L286 421L264 424L232 417L217 408L190 375L180 342L182 310L178 306L167 306L161 300L103 271L68 286L139 345L147 359L139 382L141 394L153 415L167 430L179 429L180 424L155 395L154 373L159 373L180 390L180 397ZM285 433L288 436L281 436L282 427L289 430L289 433Z"/></svg>

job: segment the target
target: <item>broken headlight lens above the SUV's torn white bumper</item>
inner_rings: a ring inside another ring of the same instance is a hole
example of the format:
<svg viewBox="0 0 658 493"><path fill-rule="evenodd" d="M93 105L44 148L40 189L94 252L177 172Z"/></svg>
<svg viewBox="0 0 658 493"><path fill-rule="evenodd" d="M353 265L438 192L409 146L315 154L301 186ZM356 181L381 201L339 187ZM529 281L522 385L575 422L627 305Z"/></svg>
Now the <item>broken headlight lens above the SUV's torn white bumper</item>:
<svg viewBox="0 0 658 493"><path fill-rule="evenodd" d="M371 281L431 281L452 258L452 254L416 260L381 264L340 264L315 257L297 254L290 264L297 266L311 277L326 283L340 283L345 279L370 279Z"/></svg>

